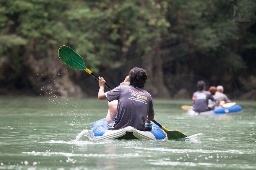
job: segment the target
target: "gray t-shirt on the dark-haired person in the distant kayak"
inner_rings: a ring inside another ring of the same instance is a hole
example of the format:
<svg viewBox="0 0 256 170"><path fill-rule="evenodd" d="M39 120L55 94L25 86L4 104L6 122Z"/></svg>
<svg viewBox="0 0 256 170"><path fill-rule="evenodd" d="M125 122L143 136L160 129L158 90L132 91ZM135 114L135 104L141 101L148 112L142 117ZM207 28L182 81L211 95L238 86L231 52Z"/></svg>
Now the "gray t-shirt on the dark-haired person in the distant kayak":
<svg viewBox="0 0 256 170"><path fill-rule="evenodd" d="M210 108L208 107L208 100L211 99L214 101L214 98L212 97L212 94L210 91L196 91L193 94L194 99L194 111L196 112L205 112L209 111Z"/></svg>

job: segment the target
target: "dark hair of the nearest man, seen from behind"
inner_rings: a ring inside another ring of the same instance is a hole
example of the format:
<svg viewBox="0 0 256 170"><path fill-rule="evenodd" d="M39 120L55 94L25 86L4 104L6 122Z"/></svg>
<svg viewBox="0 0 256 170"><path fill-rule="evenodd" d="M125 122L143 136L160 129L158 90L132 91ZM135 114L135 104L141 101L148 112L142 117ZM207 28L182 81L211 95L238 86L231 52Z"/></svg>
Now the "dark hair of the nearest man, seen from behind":
<svg viewBox="0 0 256 170"><path fill-rule="evenodd" d="M147 72L139 67L134 67L129 72L130 85L143 88L148 78Z"/></svg>

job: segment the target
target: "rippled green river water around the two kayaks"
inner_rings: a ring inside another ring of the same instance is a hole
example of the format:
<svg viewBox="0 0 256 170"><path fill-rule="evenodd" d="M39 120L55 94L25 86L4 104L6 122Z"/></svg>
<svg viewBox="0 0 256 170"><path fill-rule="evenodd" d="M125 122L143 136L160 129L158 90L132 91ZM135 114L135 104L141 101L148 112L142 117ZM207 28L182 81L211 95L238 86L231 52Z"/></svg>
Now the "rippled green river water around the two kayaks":
<svg viewBox="0 0 256 170"><path fill-rule="evenodd" d="M256 103L236 101L243 113L188 116L189 100L153 99L155 120L190 141L101 140L90 127L107 101L0 97L0 169L255 170ZM88 134L75 141L82 130Z"/></svg>

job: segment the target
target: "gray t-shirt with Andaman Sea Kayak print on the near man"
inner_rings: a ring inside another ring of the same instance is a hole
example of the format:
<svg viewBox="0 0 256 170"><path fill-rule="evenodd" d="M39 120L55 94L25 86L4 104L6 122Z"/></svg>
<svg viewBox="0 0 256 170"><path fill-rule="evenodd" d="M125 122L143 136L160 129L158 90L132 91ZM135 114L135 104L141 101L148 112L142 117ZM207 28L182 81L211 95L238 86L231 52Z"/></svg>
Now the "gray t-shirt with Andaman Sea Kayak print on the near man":
<svg viewBox="0 0 256 170"><path fill-rule="evenodd" d="M154 115L151 95L142 88L119 86L107 92L108 101L118 100L117 122L112 130L132 126L144 130L147 115Z"/></svg>

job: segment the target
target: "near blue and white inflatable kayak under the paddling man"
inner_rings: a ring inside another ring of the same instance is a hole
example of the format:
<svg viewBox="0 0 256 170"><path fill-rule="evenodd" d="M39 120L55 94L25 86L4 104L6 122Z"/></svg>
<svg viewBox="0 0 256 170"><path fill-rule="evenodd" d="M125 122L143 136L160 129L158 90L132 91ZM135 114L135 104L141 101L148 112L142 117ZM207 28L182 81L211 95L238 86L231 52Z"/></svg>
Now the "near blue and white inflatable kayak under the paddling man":
<svg viewBox="0 0 256 170"><path fill-rule="evenodd" d="M152 122L152 130L141 131L128 126L119 130L108 130L106 119L100 119L91 126L96 140L104 139L145 139L154 141L164 141L167 139L166 133Z"/></svg>

